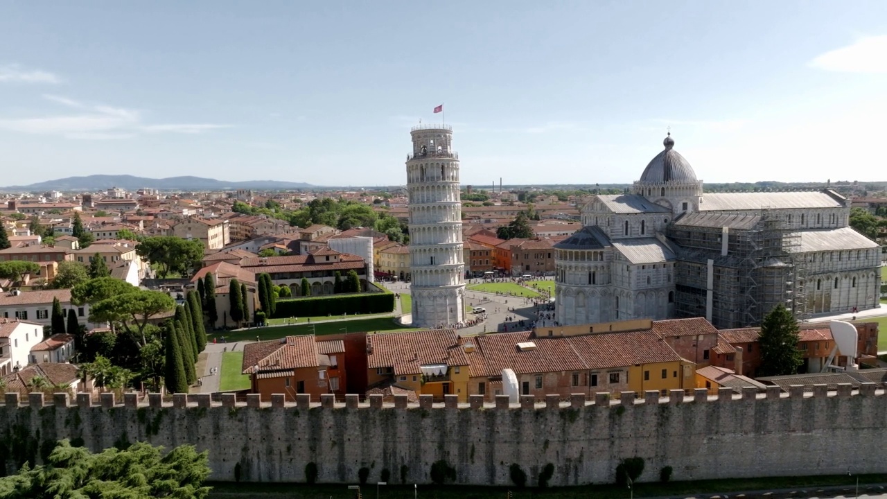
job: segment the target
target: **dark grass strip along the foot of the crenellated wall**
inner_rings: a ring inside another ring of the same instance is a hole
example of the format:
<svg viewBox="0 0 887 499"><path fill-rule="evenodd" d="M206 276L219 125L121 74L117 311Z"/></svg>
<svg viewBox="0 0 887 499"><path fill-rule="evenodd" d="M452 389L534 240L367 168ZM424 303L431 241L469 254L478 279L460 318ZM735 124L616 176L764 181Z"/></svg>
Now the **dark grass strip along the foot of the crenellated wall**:
<svg viewBox="0 0 887 499"><path fill-rule="evenodd" d="M649 479L648 474L658 474L658 470L645 471L643 478ZM392 475L395 473L392 472ZM555 474L553 479L557 479ZM745 492L752 490L772 489L799 489L810 487L847 487L850 494L856 487L857 476L831 475L810 477L779 477L765 479L722 479L722 480L698 480L685 482L635 482L632 493L635 497L657 497L667 495L693 495L712 494L720 492ZM866 491L866 484L883 483L887 481L887 475L859 475L860 493ZM373 479L374 481L374 479ZM357 483L357 477L355 482ZM326 499L355 497L353 490L348 485L304 485L294 483L233 483L211 482L207 485L213 487L209 497L287 497L292 499ZM362 495L371 497L375 495L375 484L367 484L361 487ZM613 484L587 485L578 487L468 487L468 486L437 486L423 485L413 489L411 485L387 485L381 486L379 496L385 499L412 499L418 496L422 499L502 499L511 492L514 499L550 498L568 499L583 497L584 499L624 499L627 497L625 487L617 487ZM880 492L878 492L880 494Z"/></svg>

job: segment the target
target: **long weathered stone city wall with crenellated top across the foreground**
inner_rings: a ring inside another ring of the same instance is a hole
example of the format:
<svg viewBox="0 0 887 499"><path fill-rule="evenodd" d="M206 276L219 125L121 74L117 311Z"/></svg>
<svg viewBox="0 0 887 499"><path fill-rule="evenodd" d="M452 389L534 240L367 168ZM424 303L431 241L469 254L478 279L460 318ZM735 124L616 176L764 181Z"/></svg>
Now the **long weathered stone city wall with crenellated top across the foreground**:
<svg viewBox="0 0 887 499"><path fill-rule="evenodd" d="M345 403L332 395L320 403L305 396L285 403L283 395L261 403L250 395L244 404L231 394L220 402L177 394L169 404L134 393L122 404L106 393L94 405L86 394L7 394L0 465L14 471L25 460L40 463L67 438L93 451L137 440L193 444L208 450L216 480L302 482L305 465L316 463L318 482L356 483L365 467L370 483L383 470L391 483L428 483L432 463L444 460L462 484L509 485L509 466L517 463L536 485L539 471L553 463L552 486L580 485L613 481L620 460L635 456L645 461L644 481L658 479L664 466L675 480L887 472L887 395L880 384L672 394L636 400L624 392L610 400L601 393L568 402L553 395L544 403L522 397L511 405L505 396L484 405L479 396L467 404L455 396L443 404L427 396L419 404L405 397L383 404L381 396L358 403L357 395Z"/></svg>

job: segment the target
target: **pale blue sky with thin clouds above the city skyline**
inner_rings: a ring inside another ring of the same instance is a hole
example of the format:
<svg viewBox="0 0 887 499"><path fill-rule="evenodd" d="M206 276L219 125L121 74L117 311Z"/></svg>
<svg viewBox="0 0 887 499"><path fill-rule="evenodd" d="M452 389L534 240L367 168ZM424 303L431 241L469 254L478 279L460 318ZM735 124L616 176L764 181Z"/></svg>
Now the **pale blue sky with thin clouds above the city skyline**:
<svg viewBox="0 0 887 499"><path fill-rule="evenodd" d="M887 2L4 2L0 186L91 174L462 184L887 180Z"/></svg>

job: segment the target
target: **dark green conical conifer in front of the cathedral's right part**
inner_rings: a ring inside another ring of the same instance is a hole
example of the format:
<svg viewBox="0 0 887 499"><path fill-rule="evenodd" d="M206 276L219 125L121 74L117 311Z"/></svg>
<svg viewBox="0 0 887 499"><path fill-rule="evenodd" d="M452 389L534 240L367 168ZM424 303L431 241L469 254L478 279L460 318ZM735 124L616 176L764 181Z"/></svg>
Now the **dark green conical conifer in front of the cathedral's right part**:
<svg viewBox="0 0 887 499"><path fill-rule="evenodd" d="M757 376L784 376L797 374L804 356L797 349L801 337L797 321L785 305L776 305L761 322L761 367Z"/></svg>

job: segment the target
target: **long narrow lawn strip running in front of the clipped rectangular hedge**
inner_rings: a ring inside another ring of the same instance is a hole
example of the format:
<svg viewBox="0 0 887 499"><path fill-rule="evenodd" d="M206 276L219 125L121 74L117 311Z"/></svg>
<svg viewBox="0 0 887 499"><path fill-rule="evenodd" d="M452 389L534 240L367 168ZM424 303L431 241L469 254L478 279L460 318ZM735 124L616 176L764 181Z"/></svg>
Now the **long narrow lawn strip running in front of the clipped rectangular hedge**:
<svg viewBox="0 0 887 499"><path fill-rule="evenodd" d="M347 329L347 331L345 329ZM337 335L345 332L395 332L418 330L420 329L401 326L390 317L379 317L376 319L359 319L356 321L318 322L316 324L308 324L306 322L297 326L278 326L275 328L213 331L209 337L210 341L213 337L224 337L226 342L233 343L235 341L255 341L256 337L258 337L260 341L265 341L282 337L310 334L322 336Z"/></svg>

